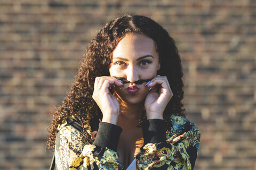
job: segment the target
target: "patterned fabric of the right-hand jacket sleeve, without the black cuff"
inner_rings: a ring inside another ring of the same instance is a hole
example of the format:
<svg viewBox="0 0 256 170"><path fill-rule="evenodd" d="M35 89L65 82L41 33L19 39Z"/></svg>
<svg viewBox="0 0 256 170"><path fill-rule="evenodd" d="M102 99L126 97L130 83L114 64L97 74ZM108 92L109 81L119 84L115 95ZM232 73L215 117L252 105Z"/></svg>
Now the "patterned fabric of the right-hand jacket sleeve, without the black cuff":
<svg viewBox="0 0 256 170"><path fill-rule="evenodd" d="M148 143L136 156L137 169L193 169L200 131L181 116L171 116L166 143ZM192 162L192 164L191 164Z"/></svg>

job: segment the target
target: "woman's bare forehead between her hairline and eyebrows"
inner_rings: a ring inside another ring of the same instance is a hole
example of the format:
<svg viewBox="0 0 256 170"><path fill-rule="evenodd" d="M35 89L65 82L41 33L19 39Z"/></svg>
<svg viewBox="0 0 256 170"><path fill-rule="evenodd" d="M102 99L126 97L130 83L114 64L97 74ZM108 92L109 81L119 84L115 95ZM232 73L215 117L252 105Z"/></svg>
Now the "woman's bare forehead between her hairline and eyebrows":
<svg viewBox="0 0 256 170"><path fill-rule="evenodd" d="M126 34L117 44L113 51L113 58L115 57L140 57L143 55L158 55L153 39L136 33Z"/></svg>

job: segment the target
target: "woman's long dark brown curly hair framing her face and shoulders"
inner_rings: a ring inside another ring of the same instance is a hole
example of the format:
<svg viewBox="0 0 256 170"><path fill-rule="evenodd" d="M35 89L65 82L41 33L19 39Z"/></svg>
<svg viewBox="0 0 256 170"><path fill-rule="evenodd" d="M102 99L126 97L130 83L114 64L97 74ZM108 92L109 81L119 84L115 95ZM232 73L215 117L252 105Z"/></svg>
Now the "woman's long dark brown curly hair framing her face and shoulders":
<svg viewBox="0 0 256 170"><path fill-rule="evenodd" d="M169 33L155 21L140 15L123 15L108 22L90 41L82 58L73 85L62 104L56 108L53 120L48 128L48 148L54 148L57 128L68 117L76 116L82 123L88 143L92 143L85 123L91 123L94 116L100 115L97 104L92 99L93 85L96 77L109 76L112 53L119 40L127 33L141 33L153 39L159 54L161 69L157 74L165 75L169 80L173 97L164 111L167 120L171 114L185 116L183 109L183 73L178 48ZM145 119L142 116L141 121Z"/></svg>

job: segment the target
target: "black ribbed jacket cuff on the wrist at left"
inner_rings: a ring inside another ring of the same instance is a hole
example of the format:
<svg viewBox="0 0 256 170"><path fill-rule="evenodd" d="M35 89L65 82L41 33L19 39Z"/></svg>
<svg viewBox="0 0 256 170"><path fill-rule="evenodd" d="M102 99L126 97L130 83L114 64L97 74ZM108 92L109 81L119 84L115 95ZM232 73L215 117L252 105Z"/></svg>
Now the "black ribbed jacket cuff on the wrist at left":
<svg viewBox="0 0 256 170"><path fill-rule="evenodd" d="M99 124L99 130L97 132L96 138L92 144L102 148L107 147L111 150L117 151L117 145L121 132L121 127L111 123L101 122Z"/></svg>

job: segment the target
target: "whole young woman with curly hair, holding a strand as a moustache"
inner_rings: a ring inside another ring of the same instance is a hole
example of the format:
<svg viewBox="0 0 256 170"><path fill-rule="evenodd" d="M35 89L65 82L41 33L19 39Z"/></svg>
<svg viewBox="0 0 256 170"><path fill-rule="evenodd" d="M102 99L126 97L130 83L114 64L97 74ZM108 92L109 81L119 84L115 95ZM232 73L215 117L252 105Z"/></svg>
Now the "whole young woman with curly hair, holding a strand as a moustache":
<svg viewBox="0 0 256 170"><path fill-rule="evenodd" d="M174 40L155 21L124 15L89 46L53 115L55 169L193 169L200 132L185 118Z"/></svg>

